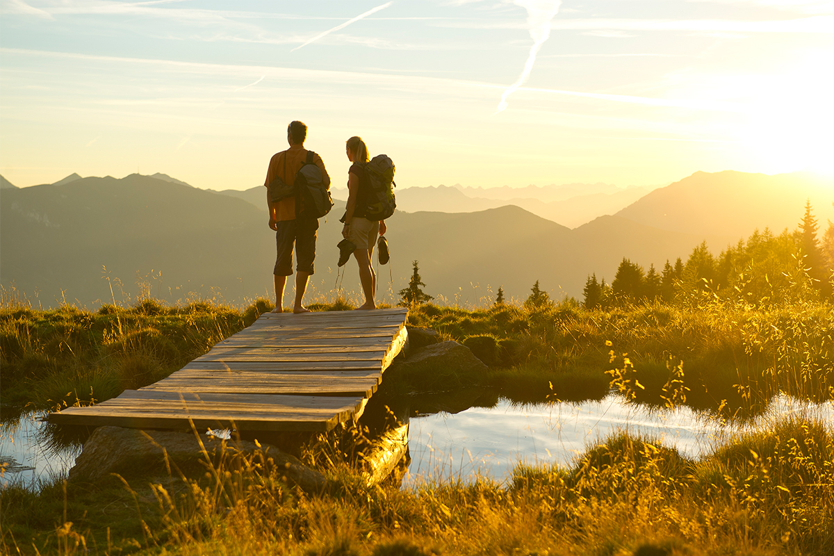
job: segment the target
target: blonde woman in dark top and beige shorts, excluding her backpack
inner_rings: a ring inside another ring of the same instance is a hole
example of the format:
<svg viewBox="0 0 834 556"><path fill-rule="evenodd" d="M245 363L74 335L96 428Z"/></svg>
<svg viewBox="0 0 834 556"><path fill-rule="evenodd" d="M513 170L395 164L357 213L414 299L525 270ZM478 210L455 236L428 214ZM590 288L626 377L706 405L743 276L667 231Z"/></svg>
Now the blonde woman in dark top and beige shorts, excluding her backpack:
<svg viewBox="0 0 834 556"><path fill-rule="evenodd" d="M345 153L353 164L348 170L348 204L342 217L342 236L356 245L354 258L359 263L359 282L362 283L365 296L364 305L359 308L375 309L376 273L371 266L370 256L374 253L377 236L385 233L385 222L365 218L370 188L370 178L365 169L369 161L368 147L362 138L352 137L345 143Z"/></svg>

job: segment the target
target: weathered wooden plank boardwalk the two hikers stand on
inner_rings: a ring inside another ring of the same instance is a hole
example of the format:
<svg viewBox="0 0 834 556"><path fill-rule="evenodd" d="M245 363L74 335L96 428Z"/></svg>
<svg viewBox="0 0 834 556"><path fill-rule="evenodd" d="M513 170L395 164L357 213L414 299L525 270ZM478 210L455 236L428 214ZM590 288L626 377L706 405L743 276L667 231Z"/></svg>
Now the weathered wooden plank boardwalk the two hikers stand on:
<svg viewBox="0 0 834 556"><path fill-rule="evenodd" d="M326 431L357 418L404 347L403 308L264 313L182 369L53 423Z"/></svg>

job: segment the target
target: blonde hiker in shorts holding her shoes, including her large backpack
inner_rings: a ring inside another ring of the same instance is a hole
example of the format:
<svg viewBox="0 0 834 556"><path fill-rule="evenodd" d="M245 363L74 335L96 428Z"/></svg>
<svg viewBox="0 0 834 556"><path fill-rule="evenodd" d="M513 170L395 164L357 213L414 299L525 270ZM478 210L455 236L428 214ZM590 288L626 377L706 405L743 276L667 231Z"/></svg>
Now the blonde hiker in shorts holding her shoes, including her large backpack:
<svg viewBox="0 0 834 556"><path fill-rule="evenodd" d="M387 156L378 155L369 161L368 147L362 138L352 137L345 143L348 160L348 203L341 222L342 236L354 243L354 258L359 263L359 282L365 302L360 309L375 309L376 273L370 263L377 237L386 230L385 218L394 212L394 164Z"/></svg>

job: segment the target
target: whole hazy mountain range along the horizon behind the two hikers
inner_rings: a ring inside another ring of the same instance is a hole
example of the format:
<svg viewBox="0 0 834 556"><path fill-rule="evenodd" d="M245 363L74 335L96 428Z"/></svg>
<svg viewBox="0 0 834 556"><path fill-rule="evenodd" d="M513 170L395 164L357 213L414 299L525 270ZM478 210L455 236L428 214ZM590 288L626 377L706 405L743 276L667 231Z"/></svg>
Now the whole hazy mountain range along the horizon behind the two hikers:
<svg viewBox="0 0 834 556"><path fill-rule="evenodd" d="M28 188L0 183L0 283L36 305L128 302L148 286L169 303L189 296L240 303L272 294L274 233L267 227L263 188L214 192L163 174L76 174ZM414 260L425 292L447 303L490 303L499 287L508 298L523 300L536 280L553 298L581 298L590 273L610 283L623 257L661 267L666 259L686 260L703 241L718 253L755 229L794 229L806 199L821 228L834 219L834 180L803 173L695 173L573 229L506 201L465 213L409 212L404 193L410 189L398 191L399 209L386 234L391 263L379 267L380 297L389 303L408 283ZM414 195L438 207L444 206L442 196L464 193L459 187L423 189ZM612 193L600 187L561 202L600 194ZM329 297L339 283L335 246L343 212L344 201L337 201L320 221L311 300ZM340 282L358 292L355 263L344 269Z"/></svg>

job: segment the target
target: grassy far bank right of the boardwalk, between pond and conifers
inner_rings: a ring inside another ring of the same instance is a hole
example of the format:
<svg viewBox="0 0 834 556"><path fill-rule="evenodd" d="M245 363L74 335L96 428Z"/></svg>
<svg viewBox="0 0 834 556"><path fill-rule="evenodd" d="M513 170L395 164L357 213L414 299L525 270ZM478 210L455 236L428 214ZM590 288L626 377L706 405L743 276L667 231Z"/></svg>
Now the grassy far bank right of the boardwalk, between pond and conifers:
<svg viewBox="0 0 834 556"><path fill-rule="evenodd" d="M638 402L686 403L724 417L759 414L777 393L834 398L829 303L595 310L570 301L477 310L427 304L414 308L409 322L470 346L490 364L489 373L470 376L432 369L435 382L501 388L517 401L601 398L613 368L623 369L615 386ZM419 377L396 376L397 393L420 390Z"/></svg>

